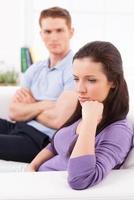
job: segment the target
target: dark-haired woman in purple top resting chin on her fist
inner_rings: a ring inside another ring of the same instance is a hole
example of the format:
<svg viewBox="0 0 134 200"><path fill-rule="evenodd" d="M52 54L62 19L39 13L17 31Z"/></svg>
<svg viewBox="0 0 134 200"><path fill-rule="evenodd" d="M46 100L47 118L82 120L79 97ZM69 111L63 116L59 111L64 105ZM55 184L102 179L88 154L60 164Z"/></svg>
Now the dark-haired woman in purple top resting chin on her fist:
<svg viewBox="0 0 134 200"><path fill-rule="evenodd" d="M82 47L74 56L73 75L77 109L27 171L67 170L70 186L85 189L121 166L133 131L126 119L128 89L115 46L95 41Z"/></svg>

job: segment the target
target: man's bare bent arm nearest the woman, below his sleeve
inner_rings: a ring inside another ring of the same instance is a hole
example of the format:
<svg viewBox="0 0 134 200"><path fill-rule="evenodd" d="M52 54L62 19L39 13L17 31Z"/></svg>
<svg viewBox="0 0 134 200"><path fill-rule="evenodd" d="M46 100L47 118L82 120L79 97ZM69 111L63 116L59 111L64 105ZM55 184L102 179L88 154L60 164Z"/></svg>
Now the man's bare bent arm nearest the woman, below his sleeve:
<svg viewBox="0 0 134 200"><path fill-rule="evenodd" d="M41 112L36 120L47 127L59 129L73 114L77 102L77 94L74 91L64 91L55 105Z"/></svg>

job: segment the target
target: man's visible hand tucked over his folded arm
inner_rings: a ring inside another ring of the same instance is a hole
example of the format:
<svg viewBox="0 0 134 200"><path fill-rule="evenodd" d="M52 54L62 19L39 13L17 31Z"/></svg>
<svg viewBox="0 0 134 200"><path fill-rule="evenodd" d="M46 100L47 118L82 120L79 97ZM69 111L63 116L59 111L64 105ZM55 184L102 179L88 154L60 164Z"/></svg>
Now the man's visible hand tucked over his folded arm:
<svg viewBox="0 0 134 200"><path fill-rule="evenodd" d="M13 102L30 104L30 103L35 103L36 100L34 99L32 93L29 89L20 88L19 90L17 90L17 92L13 98Z"/></svg>

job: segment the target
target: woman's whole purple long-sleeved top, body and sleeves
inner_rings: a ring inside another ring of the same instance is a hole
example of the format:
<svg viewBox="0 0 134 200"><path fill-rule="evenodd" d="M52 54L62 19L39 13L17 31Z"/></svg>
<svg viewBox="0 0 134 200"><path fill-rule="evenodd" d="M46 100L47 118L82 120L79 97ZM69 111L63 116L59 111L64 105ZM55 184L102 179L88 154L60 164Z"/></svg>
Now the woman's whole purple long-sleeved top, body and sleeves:
<svg viewBox="0 0 134 200"><path fill-rule="evenodd" d="M110 124L103 129L95 141L95 155L84 155L70 159L78 135L79 121L62 128L54 137L54 148L46 148L55 156L43 163L39 171L67 170L68 182L74 189L84 189L100 182L114 168L119 168L132 145L133 128L125 120ZM56 152L55 152L56 150Z"/></svg>

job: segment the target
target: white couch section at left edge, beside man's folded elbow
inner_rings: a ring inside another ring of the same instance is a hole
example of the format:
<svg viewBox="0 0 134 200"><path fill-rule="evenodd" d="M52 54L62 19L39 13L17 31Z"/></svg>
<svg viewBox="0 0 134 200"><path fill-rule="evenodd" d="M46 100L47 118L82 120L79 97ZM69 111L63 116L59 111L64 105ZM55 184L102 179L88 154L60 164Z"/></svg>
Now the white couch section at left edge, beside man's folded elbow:
<svg viewBox="0 0 134 200"><path fill-rule="evenodd" d="M8 119L9 105L18 86L0 86L0 118Z"/></svg>

